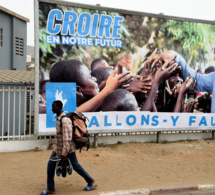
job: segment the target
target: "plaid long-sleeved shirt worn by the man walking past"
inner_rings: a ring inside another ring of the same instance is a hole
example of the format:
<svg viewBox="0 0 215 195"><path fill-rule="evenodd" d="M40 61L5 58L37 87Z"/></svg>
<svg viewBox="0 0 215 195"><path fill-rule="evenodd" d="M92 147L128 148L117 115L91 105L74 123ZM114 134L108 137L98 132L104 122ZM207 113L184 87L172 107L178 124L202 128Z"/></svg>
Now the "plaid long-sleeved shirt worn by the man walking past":
<svg viewBox="0 0 215 195"><path fill-rule="evenodd" d="M68 154L75 152L75 144L72 141L72 121L68 117L62 119L62 127L60 126L60 119L65 113L62 112L58 117L56 117L56 136L57 144L54 151L57 156L61 155L67 156Z"/></svg>

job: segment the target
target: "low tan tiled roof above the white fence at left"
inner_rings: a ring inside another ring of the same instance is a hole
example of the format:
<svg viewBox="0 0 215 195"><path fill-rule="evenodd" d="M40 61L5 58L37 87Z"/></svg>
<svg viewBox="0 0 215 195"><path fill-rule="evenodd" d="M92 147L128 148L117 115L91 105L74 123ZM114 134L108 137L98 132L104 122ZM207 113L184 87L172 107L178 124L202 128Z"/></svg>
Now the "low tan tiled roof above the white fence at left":
<svg viewBox="0 0 215 195"><path fill-rule="evenodd" d="M34 71L0 70L0 83L34 83Z"/></svg>

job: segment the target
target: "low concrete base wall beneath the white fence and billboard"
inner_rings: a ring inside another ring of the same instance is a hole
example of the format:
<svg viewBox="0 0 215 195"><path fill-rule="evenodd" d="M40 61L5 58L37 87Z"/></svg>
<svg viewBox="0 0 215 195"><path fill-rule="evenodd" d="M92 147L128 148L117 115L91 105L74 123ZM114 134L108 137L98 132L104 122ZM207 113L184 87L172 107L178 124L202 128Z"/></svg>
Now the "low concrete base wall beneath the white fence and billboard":
<svg viewBox="0 0 215 195"><path fill-rule="evenodd" d="M160 135L159 142L175 142L182 140L199 140L211 139L212 134L208 132L202 133L164 133ZM17 141L1 141L0 152L17 152L34 149L35 147L48 147L49 139L40 140L17 140ZM157 141L156 134L142 134L142 135L115 135L115 136L99 136L97 139L98 146L104 146L117 143L155 143ZM90 137L91 148L94 147L94 137Z"/></svg>

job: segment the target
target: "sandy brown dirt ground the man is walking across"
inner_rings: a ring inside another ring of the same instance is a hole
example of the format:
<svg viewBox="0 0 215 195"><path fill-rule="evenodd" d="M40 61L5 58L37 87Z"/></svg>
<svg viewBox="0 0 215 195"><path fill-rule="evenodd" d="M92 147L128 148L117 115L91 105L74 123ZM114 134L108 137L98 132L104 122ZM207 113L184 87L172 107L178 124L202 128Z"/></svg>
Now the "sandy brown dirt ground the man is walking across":
<svg viewBox="0 0 215 195"><path fill-rule="evenodd" d="M38 195L46 189L46 167L52 150L0 153L0 194ZM84 192L74 173L56 177L59 195L215 184L215 141L128 143L77 152L80 164L98 188Z"/></svg>

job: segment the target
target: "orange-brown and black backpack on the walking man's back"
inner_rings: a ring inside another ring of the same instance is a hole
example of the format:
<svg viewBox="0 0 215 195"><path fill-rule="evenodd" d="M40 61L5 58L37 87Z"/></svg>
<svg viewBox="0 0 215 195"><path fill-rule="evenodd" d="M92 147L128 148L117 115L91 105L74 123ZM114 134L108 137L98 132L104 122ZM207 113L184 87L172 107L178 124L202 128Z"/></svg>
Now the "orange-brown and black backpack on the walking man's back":
<svg viewBox="0 0 215 195"><path fill-rule="evenodd" d="M86 146L88 150L90 148L90 139L87 131L86 116L81 112L68 112L66 115L62 116L60 119L60 126L62 126L62 118L68 117L72 121L73 126L73 142L75 143L76 149L81 149Z"/></svg>

